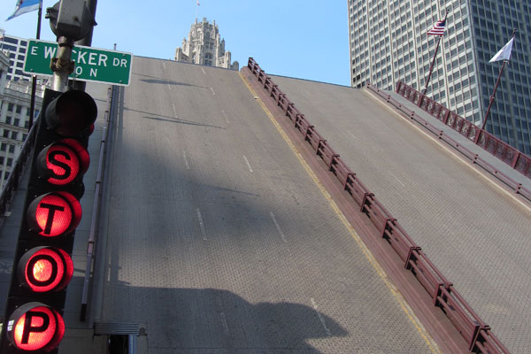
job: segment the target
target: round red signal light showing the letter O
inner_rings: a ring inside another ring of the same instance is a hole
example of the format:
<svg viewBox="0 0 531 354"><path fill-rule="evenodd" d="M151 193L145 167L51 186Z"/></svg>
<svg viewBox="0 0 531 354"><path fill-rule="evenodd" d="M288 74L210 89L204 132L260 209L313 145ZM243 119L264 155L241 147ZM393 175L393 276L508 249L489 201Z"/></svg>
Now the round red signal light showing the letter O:
<svg viewBox="0 0 531 354"><path fill-rule="evenodd" d="M19 281L37 293L65 289L73 275L72 258L61 249L35 247L20 258Z"/></svg>

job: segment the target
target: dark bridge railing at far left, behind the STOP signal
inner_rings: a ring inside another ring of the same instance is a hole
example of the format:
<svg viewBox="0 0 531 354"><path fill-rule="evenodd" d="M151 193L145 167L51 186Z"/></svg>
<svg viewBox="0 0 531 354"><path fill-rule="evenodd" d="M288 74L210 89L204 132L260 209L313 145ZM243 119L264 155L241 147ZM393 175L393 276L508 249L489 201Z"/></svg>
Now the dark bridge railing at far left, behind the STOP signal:
<svg viewBox="0 0 531 354"><path fill-rule="evenodd" d="M27 161L31 157L31 154L35 147L35 136L37 134L37 128L39 126L39 119L35 120L35 124L29 130L26 141L22 145L19 157L12 166L12 171L9 173L7 181L5 181L4 188L0 193L0 220L4 219L5 213L8 211L12 198L15 192L19 188L19 182L24 173L24 169L27 165ZM0 221L1 222L1 221Z"/></svg>

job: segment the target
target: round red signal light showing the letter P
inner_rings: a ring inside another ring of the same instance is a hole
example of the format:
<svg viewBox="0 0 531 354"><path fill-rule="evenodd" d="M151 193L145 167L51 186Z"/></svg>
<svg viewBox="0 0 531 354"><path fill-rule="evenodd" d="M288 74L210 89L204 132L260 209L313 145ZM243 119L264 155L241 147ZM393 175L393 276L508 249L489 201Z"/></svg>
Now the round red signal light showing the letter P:
<svg viewBox="0 0 531 354"><path fill-rule="evenodd" d="M48 352L58 346L63 335L61 315L41 303L23 304L7 322L7 337L18 350Z"/></svg>

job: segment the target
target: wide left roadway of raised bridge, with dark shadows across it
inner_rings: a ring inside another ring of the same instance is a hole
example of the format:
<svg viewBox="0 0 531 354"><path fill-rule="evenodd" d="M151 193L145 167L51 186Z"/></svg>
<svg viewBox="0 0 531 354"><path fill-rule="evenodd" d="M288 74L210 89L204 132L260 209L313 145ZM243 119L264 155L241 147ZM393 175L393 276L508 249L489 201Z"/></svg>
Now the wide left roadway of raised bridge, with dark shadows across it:
<svg viewBox="0 0 531 354"><path fill-rule="evenodd" d="M150 354L437 346L237 72L135 58L104 196L101 321Z"/></svg>

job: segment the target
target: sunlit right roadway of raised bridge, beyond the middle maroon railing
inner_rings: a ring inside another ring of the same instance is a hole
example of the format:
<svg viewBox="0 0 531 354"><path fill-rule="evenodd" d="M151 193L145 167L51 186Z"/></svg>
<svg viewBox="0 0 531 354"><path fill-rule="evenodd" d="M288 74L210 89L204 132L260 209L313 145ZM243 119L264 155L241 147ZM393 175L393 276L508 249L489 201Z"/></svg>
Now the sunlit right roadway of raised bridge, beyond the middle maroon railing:
<svg viewBox="0 0 531 354"><path fill-rule="evenodd" d="M529 207L378 103L369 90L272 79L504 345L527 353Z"/></svg>

